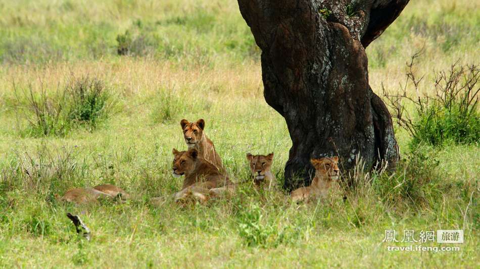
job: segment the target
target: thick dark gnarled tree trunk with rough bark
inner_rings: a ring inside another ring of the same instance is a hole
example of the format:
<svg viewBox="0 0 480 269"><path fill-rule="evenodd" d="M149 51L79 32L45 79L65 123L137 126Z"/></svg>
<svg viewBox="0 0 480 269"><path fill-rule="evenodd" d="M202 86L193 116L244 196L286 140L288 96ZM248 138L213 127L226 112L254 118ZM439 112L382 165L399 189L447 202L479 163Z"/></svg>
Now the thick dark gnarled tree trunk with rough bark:
<svg viewBox="0 0 480 269"><path fill-rule="evenodd" d="M285 188L309 185L310 158L340 156L341 169L399 157L392 119L368 84L365 47L409 0L238 0L262 50L267 103L292 138ZM299 179L299 180L297 180Z"/></svg>

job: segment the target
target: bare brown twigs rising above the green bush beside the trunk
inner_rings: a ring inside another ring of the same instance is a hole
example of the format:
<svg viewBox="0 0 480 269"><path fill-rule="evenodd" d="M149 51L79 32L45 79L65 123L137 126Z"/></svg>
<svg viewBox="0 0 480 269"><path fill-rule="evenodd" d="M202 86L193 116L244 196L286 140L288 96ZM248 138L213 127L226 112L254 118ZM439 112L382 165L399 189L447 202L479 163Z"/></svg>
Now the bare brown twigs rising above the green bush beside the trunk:
<svg viewBox="0 0 480 269"><path fill-rule="evenodd" d="M415 60L423 53L423 48L414 53L411 60L406 63L406 80L400 90L394 93L386 90L383 83L381 84L383 97L386 104L390 107L392 118L398 125L406 130L410 136L419 138L419 128L421 126L415 121L406 110L407 104L412 104L416 116L424 117L423 125L428 125L438 115L439 111L447 111L448 113L458 113L459 118L469 119L472 114L477 112L478 93L480 87L479 68L472 65L459 66L459 61L453 63L447 71L439 71L435 73L433 83L433 96L421 94L420 82L424 76L418 77L414 72ZM411 85L414 94L408 94L407 88ZM442 130L440 130L442 131Z"/></svg>

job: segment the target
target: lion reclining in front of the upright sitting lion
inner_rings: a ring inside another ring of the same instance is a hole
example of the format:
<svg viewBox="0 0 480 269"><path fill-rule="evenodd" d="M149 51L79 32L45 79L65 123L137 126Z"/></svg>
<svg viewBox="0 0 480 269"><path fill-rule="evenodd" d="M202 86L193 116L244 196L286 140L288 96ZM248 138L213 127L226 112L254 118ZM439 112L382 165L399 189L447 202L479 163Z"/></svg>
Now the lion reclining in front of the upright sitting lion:
<svg viewBox="0 0 480 269"><path fill-rule="evenodd" d="M194 196L202 201L208 200L211 189L231 185L227 176L211 163L202 158L197 149L186 151L172 150L172 174L179 178L185 176L181 190L174 194L176 201Z"/></svg>

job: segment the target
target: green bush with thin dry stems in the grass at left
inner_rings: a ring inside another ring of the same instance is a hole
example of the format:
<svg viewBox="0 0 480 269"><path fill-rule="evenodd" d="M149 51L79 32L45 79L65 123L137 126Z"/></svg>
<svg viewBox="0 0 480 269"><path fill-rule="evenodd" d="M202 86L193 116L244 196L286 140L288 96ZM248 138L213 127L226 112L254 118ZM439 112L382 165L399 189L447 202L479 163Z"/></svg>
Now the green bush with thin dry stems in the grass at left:
<svg viewBox="0 0 480 269"><path fill-rule="evenodd" d="M43 83L35 90L30 84L28 90L23 91L26 101L16 85L14 91L17 102L24 104L26 109L25 118L29 123L26 134L33 137L65 136L77 125L91 131L108 118L113 104L104 83L98 78L74 79L56 91L45 89Z"/></svg>

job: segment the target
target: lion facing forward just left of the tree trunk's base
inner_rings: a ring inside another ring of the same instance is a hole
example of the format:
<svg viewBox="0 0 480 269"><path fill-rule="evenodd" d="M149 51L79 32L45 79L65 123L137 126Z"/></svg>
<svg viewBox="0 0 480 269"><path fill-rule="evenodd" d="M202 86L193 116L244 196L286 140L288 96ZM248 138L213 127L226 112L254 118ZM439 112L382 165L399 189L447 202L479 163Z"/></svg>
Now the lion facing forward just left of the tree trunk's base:
<svg viewBox="0 0 480 269"><path fill-rule="evenodd" d="M250 162L250 172L252 173L255 186L263 186L264 189L269 190L275 188L277 179L270 171L273 161L273 152L268 155L252 155L251 153L247 153L247 159Z"/></svg>

